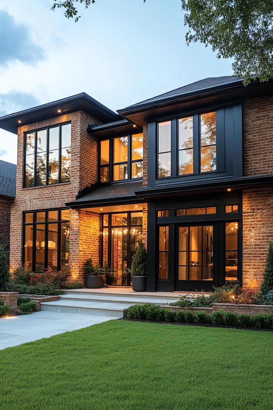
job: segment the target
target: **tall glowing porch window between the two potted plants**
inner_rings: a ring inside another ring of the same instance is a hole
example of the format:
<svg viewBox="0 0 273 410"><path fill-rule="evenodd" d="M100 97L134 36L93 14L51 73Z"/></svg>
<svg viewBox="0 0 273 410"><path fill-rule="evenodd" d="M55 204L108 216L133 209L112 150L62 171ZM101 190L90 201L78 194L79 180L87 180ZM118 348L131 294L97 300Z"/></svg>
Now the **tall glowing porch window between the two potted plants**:
<svg viewBox="0 0 273 410"><path fill-rule="evenodd" d="M111 266L112 285L131 285L130 268L142 237L142 211L102 215L101 263Z"/></svg>

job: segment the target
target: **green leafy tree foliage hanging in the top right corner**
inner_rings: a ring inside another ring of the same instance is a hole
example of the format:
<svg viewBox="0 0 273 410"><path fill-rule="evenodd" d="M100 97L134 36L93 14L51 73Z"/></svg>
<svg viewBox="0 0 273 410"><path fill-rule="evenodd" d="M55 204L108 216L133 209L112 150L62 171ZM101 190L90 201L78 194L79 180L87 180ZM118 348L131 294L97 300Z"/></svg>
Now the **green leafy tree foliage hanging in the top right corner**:
<svg viewBox="0 0 273 410"><path fill-rule="evenodd" d="M233 58L244 84L273 78L273 2L268 0L182 0L186 43L210 45L218 58Z"/></svg>

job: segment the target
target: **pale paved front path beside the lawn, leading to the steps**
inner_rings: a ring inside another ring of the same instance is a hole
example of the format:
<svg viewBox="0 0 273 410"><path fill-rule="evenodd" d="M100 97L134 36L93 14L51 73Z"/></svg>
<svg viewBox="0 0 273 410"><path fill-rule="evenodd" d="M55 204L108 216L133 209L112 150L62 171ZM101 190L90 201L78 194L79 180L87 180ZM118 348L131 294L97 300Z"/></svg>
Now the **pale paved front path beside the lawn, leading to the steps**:
<svg viewBox="0 0 273 410"><path fill-rule="evenodd" d="M0 319L0 349L86 328L111 319L117 318L47 311L5 317Z"/></svg>

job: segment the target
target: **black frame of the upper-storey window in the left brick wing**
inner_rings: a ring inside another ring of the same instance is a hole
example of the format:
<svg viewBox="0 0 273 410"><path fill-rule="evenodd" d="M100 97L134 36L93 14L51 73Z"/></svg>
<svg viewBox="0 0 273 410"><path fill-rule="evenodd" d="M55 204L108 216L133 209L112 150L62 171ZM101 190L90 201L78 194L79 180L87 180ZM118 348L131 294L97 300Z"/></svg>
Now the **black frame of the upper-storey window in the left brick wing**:
<svg viewBox="0 0 273 410"><path fill-rule="evenodd" d="M61 129L62 129L62 125L66 125L66 124L71 124L71 121L65 121L63 123L58 123L58 124L54 124L54 125L49 125L47 127L41 127L41 128L36 128L35 130L29 130L29 131L25 131L24 132L24 167L23 167L23 189L27 189L27 188L37 188L37 187L47 187L47 186L53 186L56 184L68 184L71 181L71 178L69 181L61 181L61 159L62 159L62 139L61 139ZM49 133L50 133L50 129L51 128L57 128L59 127L59 171L58 171L58 182L55 182L53 184L49 183ZM46 183L45 185L37 185L37 132L38 131L43 131L46 130L47 132L47 136L46 136ZM33 185L27 187L25 185L26 183L26 175L25 175L25 170L26 170L26 151L27 151L27 134L32 134L34 133L34 178L33 178ZM70 141L71 144L71 141ZM68 148L68 147L65 147ZM71 145L70 145L70 149L71 149ZM71 161L71 156L70 156L70 161ZM71 163L70 163L70 169L71 169Z"/></svg>

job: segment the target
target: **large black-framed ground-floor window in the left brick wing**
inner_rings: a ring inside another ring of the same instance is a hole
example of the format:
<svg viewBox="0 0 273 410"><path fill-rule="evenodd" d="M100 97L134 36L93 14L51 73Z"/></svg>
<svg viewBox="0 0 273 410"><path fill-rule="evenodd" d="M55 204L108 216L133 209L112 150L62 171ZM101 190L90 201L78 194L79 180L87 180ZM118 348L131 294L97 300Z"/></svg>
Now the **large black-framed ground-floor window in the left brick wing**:
<svg viewBox="0 0 273 410"><path fill-rule="evenodd" d="M69 209L25 212L23 263L25 269L43 272L69 263Z"/></svg>

